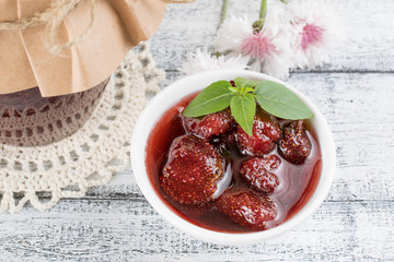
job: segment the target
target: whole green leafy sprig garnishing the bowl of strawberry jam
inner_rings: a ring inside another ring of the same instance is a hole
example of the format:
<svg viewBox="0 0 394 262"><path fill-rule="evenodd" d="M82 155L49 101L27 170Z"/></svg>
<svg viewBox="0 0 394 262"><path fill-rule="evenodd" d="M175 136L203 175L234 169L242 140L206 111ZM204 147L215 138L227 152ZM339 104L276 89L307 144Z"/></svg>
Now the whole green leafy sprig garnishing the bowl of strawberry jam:
<svg viewBox="0 0 394 262"><path fill-rule="evenodd" d="M243 78L218 81L201 91L183 111L186 117L200 117L221 111L230 106L231 115L241 128L252 135L256 100L267 112L283 119L312 118L312 111L286 86L271 81Z"/></svg>

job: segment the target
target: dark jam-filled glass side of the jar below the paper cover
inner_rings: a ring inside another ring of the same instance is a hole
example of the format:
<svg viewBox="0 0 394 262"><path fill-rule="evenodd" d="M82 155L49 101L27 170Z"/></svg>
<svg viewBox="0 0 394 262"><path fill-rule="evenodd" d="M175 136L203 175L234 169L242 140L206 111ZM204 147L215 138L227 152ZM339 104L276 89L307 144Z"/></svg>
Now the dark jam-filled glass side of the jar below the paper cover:
<svg viewBox="0 0 394 262"><path fill-rule="evenodd" d="M0 143L40 146L71 135L92 115L108 80L61 96L42 97L38 87L0 95Z"/></svg>

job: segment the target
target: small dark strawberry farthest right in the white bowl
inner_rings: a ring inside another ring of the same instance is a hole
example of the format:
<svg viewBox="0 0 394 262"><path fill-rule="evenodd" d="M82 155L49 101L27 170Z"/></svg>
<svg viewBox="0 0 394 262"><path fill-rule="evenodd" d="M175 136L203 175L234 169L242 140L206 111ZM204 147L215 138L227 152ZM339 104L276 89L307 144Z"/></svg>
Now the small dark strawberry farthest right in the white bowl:
<svg viewBox="0 0 394 262"><path fill-rule="evenodd" d="M306 135L303 120L296 120L283 128L283 138L279 141L279 152L285 159L302 165L310 155L312 144Z"/></svg>

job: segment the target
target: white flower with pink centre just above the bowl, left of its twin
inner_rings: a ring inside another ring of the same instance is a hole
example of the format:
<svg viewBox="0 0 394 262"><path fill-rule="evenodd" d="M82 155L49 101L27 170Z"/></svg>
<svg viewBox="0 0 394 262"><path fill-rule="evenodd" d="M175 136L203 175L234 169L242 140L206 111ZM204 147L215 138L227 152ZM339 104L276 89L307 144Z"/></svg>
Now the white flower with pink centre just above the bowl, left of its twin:
<svg viewBox="0 0 394 262"><path fill-rule="evenodd" d="M282 23L282 8L269 7L262 31L254 32L246 17L231 16L223 22L213 41L217 51L230 57L242 55L247 58L251 69L276 78L287 78L293 66L287 28L290 23Z"/></svg>

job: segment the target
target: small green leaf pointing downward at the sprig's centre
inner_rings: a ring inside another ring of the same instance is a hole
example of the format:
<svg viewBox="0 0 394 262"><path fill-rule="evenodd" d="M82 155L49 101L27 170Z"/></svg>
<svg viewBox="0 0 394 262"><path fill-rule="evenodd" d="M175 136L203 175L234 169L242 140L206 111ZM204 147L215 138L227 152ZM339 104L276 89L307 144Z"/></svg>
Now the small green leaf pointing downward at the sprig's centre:
<svg viewBox="0 0 394 262"><path fill-rule="evenodd" d="M241 128L252 135L253 120L256 112L256 100L253 94L239 94L231 99L231 115Z"/></svg>

